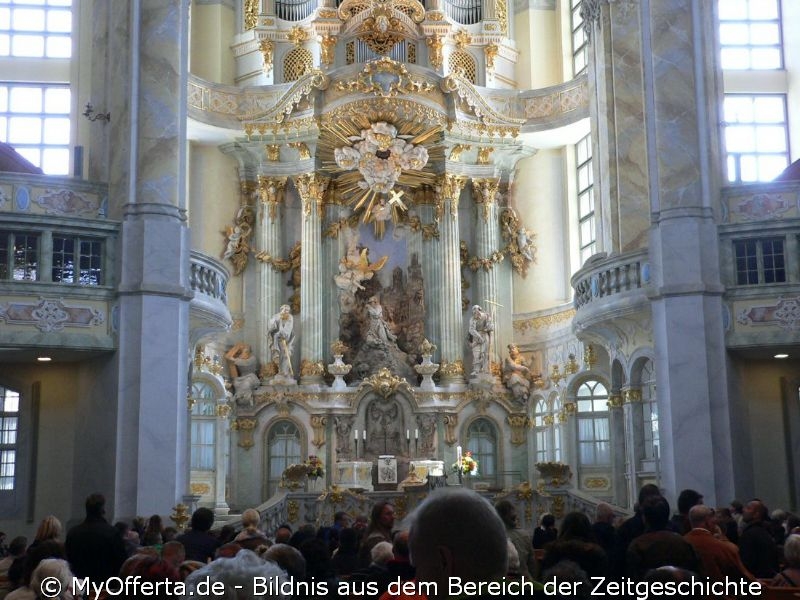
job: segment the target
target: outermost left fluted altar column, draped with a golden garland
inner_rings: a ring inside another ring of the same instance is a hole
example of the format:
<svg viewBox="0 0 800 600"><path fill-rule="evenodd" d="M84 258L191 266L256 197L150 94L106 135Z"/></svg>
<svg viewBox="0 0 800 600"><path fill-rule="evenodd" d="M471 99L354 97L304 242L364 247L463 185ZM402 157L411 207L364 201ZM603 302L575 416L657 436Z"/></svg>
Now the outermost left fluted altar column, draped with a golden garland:
<svg viewBox="0 0 800 600"><path fill-rule="evenodd" d="M258 356L261 360L261 376L272 377L278 365L272 362L267 328L269 319L277 314L283 304L283 273L275 260L283 258L283 204L286 177L258 176L259 215L256 228L256 250L258 259Z"/></svg>

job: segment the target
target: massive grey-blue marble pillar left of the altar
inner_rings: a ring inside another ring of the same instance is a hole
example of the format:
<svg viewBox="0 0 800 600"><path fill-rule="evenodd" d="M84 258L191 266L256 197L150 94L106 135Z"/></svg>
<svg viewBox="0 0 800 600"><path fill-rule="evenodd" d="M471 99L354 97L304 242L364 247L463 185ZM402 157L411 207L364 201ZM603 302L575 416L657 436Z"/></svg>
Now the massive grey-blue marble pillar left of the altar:
<svg viewBox="0 0 800 600"><path fill-rule="evenodd" d="M188 492L189 5L112 4L109 204L122 227L119 350L106 367L116 369L116 390L106 399L117 402L117 434L103 449L115 457L115 481L103 491L113 491L113 515L121 518L168 514ZM76 447L76 465L94 462L97 448L83 440ZM85 493L81 480L75 487Z"/></svg>

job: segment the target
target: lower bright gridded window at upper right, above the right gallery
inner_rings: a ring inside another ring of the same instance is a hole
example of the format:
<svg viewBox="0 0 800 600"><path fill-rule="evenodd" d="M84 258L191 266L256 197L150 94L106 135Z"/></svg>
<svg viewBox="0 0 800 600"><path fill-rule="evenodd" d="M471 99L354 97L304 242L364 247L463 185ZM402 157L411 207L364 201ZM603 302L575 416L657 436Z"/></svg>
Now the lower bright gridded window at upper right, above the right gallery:
<svg viewBox="0 0 800 600"><path fill-rule="evenodd" d="M726 94L723 108L729 181L769 181L789 166L785 95Z"/></svg>

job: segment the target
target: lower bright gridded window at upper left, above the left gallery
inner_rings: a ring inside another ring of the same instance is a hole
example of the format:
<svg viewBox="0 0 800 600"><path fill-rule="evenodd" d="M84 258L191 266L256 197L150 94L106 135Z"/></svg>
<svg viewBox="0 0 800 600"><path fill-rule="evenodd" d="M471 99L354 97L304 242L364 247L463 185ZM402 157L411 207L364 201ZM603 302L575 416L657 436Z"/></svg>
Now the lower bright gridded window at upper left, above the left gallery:
<svg viewBox="0 0 800 600"><path fill-rule="evenodd" d="M48 175L69 173L69 113L68 85L0 82L0 141Z"/></svg>

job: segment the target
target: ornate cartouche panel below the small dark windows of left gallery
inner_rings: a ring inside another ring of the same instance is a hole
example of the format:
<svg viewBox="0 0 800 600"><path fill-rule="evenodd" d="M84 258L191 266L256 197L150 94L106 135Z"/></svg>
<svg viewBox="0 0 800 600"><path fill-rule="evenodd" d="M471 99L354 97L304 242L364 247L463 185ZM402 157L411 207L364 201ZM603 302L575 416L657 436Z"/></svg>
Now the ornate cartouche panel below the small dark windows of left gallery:
<svg viewBox="0 0 800 600"><path fill-rule="evenodd" d="M105 322L105 314L96 308L65 306L60 298L41 298L38 304L0 304L0 320L9 325L34 325L43 333L51 333L61 331L64 327L101 325Z"/></svg>

